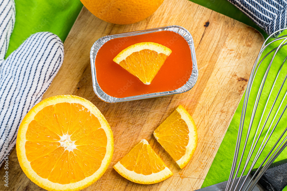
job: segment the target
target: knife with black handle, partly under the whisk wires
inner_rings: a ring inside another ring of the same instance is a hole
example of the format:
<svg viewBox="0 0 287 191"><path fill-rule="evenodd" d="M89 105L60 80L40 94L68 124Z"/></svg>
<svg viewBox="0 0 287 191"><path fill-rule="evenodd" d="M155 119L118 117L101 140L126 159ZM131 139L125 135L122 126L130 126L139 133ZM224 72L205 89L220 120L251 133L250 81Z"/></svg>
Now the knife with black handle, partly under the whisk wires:
<svg viewBox="0 0 287 191"><path fill-rule="evenodd" d="M253 169L251 174L247 177L247 181L243 185L243 190L246 188L248 182L251 180L256 170L257 169ZM239 185L242 185L245 178L246 175L241 178ZM201 188L196 191L225 191L226 185L227 181ZM254 187L253 191L282 191L286 185L287 159L284 159L278 162L274 162L272 165L270 165L270 167L266 170L266 172ZM237 190L239 190L239 188Z"/></svg>

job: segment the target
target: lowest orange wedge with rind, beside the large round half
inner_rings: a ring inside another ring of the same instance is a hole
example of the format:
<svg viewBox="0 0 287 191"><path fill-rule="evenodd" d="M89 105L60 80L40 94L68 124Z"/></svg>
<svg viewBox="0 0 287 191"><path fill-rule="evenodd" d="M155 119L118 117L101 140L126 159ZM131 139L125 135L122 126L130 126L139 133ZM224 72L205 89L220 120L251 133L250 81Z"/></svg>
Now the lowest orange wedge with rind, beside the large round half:
<svg viewBox="0 0 287 191"><path fill-rule="evenodd" d="M114 169L124 178L139 184L155 184L172 176L146 139L142 139Z"/></svg>

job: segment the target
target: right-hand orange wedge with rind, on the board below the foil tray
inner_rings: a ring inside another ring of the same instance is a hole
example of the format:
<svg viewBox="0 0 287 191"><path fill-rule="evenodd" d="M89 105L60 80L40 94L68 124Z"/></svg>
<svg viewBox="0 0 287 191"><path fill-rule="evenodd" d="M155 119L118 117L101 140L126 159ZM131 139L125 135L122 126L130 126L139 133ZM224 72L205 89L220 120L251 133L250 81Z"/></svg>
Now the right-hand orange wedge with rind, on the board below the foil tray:
<svg viewBox="0 0 287 191"><path fill-rule="evenodd" d="M181 169L191 160L197 147L195 123L181 105L158 126L154 137Z"/></svg>

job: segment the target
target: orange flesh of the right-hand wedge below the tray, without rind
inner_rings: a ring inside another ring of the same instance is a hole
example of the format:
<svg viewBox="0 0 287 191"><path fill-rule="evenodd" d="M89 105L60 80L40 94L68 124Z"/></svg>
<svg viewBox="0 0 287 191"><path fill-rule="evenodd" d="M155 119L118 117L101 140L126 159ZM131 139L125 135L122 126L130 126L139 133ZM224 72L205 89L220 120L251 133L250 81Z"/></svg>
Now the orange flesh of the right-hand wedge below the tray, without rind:
<svg viewBox="0 0 287 191"><path fill-rule="evenodd" d="M154 132L158 137L157 141L175 161L185 155L189 129L179 112L175 110Z"/></svg>

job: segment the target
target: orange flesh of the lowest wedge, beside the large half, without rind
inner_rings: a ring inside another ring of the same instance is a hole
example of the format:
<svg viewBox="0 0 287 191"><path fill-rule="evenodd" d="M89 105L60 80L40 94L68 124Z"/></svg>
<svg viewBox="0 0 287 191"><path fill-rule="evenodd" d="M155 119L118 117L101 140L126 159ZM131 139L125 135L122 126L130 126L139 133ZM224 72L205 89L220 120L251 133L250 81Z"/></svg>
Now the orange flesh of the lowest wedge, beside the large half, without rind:
<svg viewBox="0 0 287 191"><path fill-rule="evenodd" d="M133 147L133 149L120 160L120 163L127 170L144 175L157 173L165 168L164 163L152 147L142 142Z"/></svg>

